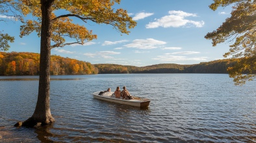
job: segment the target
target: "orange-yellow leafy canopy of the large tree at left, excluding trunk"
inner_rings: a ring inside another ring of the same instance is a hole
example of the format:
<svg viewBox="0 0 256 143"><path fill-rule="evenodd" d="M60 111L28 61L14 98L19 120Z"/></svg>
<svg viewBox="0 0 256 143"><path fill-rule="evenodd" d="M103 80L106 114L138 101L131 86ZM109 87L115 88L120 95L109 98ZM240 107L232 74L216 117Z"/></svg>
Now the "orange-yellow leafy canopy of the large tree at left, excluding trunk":
<svg viewBox="0 0 256 143"><path fill-rule="evenodd" d="M23 0L20 3L21 10L25 16L32 14L38 19L29 19L25 25L21 26L20 36L27 36L31 32L36 31L38 36L41 34L42 14L40 10L40 1ZM136 22L128 16L127 11L122 8L114 10L112 6L120 3L120 0L59 0L53 1L51 6L51 49L55 47L64 47L65 45L81 44L86 41L96 39L97 35L88 30L84 25L73 23L73 19L80 19L84 24L88 21L94 23L105 23L112 25L116 30L129 34L127 28L134 28ZM25 4L25 5L24 5ZM65 10L62 15L57 15L58 10ZM66 38L75 39L75 41L67 43Z"/></svg>

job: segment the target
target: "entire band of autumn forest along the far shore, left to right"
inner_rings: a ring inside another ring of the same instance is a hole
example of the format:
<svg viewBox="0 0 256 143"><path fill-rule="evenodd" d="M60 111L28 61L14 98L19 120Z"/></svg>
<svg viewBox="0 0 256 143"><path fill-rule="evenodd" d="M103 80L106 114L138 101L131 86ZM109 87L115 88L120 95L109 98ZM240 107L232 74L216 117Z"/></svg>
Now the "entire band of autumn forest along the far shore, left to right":
<svg viewBox="0 0 256 143"><path fill-rule="evenodd" d="M38 75L40 54L32 52L0 52L0 76ZM51 56L51 75L71 74L136 74L136 73L219 73L227 74L227 68L236 60L216 60L194 65L162 63L145 67L116 64L91 64L61 56Z"/></svg>

